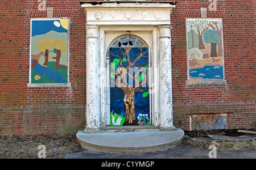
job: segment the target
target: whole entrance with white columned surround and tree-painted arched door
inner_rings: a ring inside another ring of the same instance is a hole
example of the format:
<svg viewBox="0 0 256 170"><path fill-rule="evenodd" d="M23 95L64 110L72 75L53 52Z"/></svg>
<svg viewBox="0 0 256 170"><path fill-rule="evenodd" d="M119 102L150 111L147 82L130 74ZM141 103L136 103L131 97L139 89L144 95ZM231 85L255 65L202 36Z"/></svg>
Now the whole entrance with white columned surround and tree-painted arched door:
<svg viewBox="0 0 256 170"><path fill-rule="evenodd" d="M174 3L81 4L86 14L84 132L99 133L111 125L176 130L170 26Z"/></svg>

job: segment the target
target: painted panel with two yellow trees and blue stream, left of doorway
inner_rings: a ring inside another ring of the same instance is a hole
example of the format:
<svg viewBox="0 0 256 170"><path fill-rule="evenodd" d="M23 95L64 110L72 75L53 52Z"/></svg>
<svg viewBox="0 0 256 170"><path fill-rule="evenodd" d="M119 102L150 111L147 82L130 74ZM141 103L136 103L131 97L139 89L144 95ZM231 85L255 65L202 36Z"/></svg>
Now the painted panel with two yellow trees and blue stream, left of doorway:
<svg viewBox="0 0 256 170"><path fill-rule="evenodd" d="M31 19L30 83L68 83L68 19Z"/></svg>

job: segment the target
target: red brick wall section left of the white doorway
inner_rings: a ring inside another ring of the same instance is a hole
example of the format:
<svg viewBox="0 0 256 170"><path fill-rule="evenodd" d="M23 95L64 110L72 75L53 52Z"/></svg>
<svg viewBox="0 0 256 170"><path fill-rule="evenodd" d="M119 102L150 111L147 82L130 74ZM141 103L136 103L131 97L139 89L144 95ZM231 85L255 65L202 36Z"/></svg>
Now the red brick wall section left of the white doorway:
<svg viewBox="0 0 256 170"><path fill-rule="evenodd" d="M63 133L85 126L85 14L79 1L49 1L53 17L70 17L72 87L27 87L30 18L44 18L37 0L0 1L0 135Z"/></svg>

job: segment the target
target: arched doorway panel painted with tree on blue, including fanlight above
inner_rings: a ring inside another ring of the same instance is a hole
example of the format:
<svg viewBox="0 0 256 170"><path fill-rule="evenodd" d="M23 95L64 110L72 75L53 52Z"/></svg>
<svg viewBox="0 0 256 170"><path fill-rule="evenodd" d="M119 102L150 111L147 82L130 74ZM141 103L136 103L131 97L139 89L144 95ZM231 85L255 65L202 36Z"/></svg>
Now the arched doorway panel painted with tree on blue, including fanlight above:
<svg viewBox="0 0 256 170"><path fill-rule="evenodd" d="M134 37L122 37L109 56L110 125L150 125L148 48Z"/></svg>

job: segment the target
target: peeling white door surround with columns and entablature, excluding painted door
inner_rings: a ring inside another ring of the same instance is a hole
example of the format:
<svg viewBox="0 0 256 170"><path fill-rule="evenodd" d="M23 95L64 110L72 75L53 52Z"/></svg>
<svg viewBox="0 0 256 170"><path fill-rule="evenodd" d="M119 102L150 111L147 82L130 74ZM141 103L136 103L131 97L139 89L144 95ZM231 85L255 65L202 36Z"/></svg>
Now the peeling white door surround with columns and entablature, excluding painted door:
<svg viewBox="0 0 256 170"><path fill-rule="evenodd" d="M150 48L151 125L176 130L172 117L171 2L81 2L86 14L86 127L108 126L108 48L118 36L134 35Z"/></svg>

